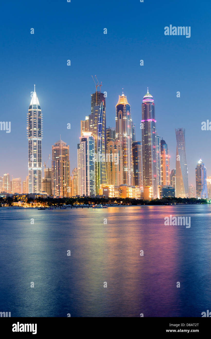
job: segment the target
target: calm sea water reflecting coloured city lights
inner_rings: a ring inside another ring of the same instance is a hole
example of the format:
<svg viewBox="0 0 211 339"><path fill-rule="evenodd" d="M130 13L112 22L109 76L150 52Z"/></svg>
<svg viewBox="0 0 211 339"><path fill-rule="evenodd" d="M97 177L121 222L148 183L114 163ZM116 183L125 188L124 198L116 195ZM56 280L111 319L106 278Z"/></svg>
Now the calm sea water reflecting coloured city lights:
<svg viewBox="0 0 211 339"><path fill-rule="evenodd" d="M169 215L191 227L165 226ZM11 317L201 317L210 266L209 205L0 208L0 312Z"/></svg>

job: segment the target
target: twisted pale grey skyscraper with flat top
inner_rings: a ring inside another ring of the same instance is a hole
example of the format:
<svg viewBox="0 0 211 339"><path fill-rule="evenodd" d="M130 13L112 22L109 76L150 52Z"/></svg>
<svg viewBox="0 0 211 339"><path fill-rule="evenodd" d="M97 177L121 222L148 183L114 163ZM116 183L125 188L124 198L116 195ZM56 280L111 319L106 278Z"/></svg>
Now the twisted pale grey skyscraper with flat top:
<svg viewBox="0 0 211 339"><path fill-rule="evenodd" d="M188 168L185 153L185 128L175 129L177 140L176 152L176 197L188 198Z"/></svg>

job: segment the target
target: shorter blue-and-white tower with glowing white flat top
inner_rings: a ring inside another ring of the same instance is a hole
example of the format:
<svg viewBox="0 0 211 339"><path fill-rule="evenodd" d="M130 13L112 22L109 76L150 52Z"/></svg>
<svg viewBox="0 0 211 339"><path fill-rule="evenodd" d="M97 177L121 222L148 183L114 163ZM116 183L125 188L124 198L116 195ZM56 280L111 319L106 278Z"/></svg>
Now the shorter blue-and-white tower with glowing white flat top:
<svg viewBox="0 0 211 339"><path fill-rule="evenodd" d="M95 195L95 140L91 132L83 132L80 137L79 169L80 196ZM79 170L78 169L78 170Z"/></svg>

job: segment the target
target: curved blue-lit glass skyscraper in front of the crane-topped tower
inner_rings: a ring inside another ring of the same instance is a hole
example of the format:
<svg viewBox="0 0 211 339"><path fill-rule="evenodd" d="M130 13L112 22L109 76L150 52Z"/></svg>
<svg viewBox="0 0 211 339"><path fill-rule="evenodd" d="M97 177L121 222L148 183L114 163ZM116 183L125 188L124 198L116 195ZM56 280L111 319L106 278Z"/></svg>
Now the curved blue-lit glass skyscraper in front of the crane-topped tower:
<svg viewBox="0 0 211 339"><path fill-rule="evenodd" d="M99 105L93 105L93 95L91 99L91 114L89 115L89 132L92 132L95 145L95 194L98 195L101 184L107 184L106 156L105 156L105 135L106 135L106 107L104 101ZM98 93L100 95L102 93ZM102 98L104 99L103 95ZM100 100L100 99L97 99Z"/></svg>

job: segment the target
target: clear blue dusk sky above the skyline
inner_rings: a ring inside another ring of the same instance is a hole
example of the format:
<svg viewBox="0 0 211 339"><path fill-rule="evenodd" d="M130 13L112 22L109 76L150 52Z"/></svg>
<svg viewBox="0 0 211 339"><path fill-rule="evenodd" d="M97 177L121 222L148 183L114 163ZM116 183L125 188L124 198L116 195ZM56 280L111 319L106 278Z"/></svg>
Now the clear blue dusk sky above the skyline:
<svg viewBox="0 0 211 339"><path fill-rule="evenodd" d="M107 127L115 127L115 105L123 87L136 139L141 140L141 103L148 86L170 167L175 167L175 128L184 127L189 185L195 185L200 157L211 175L211 131L201 130L202 121L211 121L210 7L208 1L187 0L4 2L0 121L11 121L11 132L0 131L0 176L9 173L23 181L27 175L26 114L34 83L44 121L42 159L47 160L61 134L70 145L72 171L80 120L90 114L95 74L101 91L107 92ZM170 24L191 26L191 37L165 36L164 27Z"/></svg>

